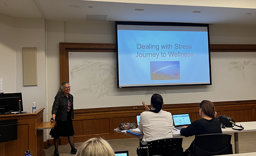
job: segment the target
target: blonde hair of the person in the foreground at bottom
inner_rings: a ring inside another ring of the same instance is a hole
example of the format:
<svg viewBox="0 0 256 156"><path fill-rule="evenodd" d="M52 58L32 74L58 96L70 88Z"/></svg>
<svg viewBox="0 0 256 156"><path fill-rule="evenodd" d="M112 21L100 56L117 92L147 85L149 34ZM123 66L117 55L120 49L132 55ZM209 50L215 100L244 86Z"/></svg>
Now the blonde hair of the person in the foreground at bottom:
<svg viewBox="0 0 256 156"><path fill-rule="evenodd" d="M91 138L78 149L76 156L115 156L115 153L106 140Z"/></svg>

